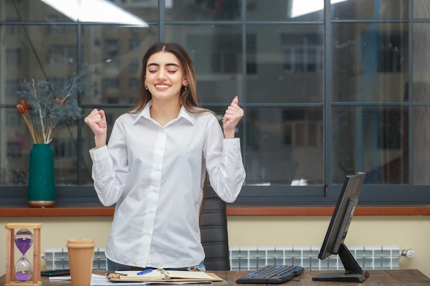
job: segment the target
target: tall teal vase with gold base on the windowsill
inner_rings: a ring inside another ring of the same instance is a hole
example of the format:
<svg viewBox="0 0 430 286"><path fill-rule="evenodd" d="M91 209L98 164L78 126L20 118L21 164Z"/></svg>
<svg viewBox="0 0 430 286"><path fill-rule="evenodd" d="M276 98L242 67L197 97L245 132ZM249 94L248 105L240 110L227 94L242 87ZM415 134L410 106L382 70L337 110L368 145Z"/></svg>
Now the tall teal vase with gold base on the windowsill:
<svg viewBox="0 0 430 286"><path fill-rule="evenodd" d="M55 206L54 151L49 144L33 144L27 192L29 206Z"/></svg>

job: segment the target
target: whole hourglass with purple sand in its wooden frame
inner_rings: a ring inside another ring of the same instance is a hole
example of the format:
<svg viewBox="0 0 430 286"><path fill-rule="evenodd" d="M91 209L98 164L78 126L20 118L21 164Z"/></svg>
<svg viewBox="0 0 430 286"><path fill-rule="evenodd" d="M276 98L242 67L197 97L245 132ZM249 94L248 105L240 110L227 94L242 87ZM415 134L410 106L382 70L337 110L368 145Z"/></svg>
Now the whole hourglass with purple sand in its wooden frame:
<svg viewBox="0 0 430 286"><path fill-rule="evenodd" d="M42 285L41 280L41 227L42 224L6 224L6 279L5 286ZM19 229L15 233L15 229ZM33 229L34 234L29 230ZM14 263L14 248L21 257ZM33 246L33 263L26 253ZM13 266L14 265L14 266ZM30 278L32 278L30 281ZM16 282L14 282L16 280ZM31 283L32 282L32 283Z"/></svg>

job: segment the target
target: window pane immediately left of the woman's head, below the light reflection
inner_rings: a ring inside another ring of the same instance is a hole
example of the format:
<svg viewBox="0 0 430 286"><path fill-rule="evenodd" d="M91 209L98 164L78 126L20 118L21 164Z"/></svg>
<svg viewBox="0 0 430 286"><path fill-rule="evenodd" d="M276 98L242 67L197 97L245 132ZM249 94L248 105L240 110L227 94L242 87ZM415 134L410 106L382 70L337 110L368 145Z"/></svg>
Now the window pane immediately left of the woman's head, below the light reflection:
<svg viewBox="0 0 430 286"><path fill-rule="evenodd" d="M157 36L149 28L84 26L82 68L95 72L95 97L84 104L131 104L137 99L142 58Z"/></svg>

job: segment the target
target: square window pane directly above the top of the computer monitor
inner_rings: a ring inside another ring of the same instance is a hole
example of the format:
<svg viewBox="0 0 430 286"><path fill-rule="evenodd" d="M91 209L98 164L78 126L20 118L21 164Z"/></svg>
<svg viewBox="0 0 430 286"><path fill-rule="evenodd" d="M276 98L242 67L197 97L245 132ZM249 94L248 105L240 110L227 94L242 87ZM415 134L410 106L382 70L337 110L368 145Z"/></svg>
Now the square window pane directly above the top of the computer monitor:
<svg viewBox="0 0 430 286"><path fill-rule="evenodd" d="M332 182L367 172L370 184L407 184L408 113L400 107L332 109Z"/></svg>

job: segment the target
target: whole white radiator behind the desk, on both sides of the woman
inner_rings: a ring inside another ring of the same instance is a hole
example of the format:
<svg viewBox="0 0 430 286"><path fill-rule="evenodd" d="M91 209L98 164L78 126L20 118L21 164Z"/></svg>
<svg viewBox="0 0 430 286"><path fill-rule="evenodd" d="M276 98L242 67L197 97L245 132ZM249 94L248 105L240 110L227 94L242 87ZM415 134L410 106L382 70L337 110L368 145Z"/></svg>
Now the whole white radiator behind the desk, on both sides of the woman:
<svg viewBox="0 0 430 286"><path fill-rule="evenodd" d="M310 270L343 270L339 256L318 259L319 246L254 246L229 248L231 270L256 270L264 265L301 265ZM365 270L399 269L398 246L348 246ZM94 249L93 270L107 270L105 248ZM69 268L67 248L47 248L46 270Z"/></svg>

